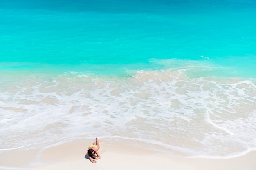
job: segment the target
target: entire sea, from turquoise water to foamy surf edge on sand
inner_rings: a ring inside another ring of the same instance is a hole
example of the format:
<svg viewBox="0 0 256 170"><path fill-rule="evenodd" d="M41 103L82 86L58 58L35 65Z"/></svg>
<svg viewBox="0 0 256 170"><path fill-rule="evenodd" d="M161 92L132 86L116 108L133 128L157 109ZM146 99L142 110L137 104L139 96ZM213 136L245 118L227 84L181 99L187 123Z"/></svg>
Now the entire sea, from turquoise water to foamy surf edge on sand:
<svg viewBox="0 0 256 170"><path fill-rule="evenodd" d="M256 150L255 18L256 0L0 0L0 152Z"/></svg>

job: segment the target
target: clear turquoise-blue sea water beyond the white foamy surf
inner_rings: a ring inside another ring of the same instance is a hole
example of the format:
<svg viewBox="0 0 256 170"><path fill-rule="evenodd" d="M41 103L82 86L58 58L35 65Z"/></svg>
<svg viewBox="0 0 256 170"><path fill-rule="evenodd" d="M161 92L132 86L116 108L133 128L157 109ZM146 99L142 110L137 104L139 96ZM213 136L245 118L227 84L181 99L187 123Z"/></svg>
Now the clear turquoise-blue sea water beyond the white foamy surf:
<svg viewBox="0 0 256 170"><path fill-rule="evenodd" d="M254 0L2 2L1 71L113 74L193 60L211 64L211 75L255 78L255 9ZM163 59L178 61L155 62Z"/></svg>

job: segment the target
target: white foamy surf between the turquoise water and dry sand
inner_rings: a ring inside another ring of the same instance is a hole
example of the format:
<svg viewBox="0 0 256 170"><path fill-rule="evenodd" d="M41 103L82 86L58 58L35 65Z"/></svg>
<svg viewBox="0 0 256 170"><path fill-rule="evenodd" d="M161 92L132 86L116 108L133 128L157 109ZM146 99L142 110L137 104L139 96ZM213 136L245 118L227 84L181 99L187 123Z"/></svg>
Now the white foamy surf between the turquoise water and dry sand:
<svg viewBox="0 0 256 170"><path fill-rule="evenodd" d="M256 82L190 79L185 73L6 78L0 84L0 149L44 148L97 134L109 142L145 141L140 147L195 157L255 150Z"/></svg>

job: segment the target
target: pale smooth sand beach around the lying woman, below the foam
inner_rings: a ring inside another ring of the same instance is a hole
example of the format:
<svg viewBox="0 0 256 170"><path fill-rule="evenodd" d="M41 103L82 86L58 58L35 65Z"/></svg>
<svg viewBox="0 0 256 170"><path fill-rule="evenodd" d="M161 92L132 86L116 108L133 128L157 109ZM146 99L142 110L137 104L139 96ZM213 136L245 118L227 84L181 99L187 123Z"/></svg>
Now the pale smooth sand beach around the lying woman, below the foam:
<svg viewBox="0 0 256 170"><path fill-rule="evenodd" d="M101 144L101 159L91 163L85 159L88 142L77 141L48 148L38 157L37 150L5 152L0 155L1 170L255 170L256 152L228 159L175 157L152 150L119 144ZM30 164L30 165L29 165ZM4 168L5 167L5 168ZM7 168L9 167L9 168Z"/></svg>

